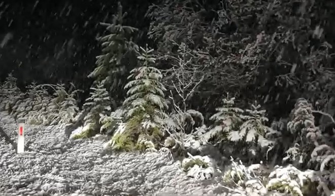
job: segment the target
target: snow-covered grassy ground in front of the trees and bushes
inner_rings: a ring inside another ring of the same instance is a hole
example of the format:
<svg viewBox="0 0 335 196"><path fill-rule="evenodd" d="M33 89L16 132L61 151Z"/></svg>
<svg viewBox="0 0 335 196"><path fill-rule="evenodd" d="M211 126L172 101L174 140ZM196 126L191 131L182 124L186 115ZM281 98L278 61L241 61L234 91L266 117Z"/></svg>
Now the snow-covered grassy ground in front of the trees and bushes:
<svg viewBox="0 0 335 196"><path fill-rule="evenodd" d="M0 112L16 140L17 124ZM27 126L28 150L17 154L0 138L0 195L227 195L219 177L186 177L166 153L111 153L102 140L69 141L60 126Z"/></svg>

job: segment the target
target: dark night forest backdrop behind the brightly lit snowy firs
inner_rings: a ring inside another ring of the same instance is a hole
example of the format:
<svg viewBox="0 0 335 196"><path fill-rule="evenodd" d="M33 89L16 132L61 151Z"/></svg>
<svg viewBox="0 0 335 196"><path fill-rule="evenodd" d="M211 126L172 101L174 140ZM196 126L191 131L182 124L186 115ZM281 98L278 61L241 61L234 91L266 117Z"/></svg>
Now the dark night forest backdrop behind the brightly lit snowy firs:
<svg viewBox="0 0 335 196"><path fill-rule="evenodd" d="M139 29L133 37L139 46L148 44L157 56L176 54L174 42L196 51L205 79L187 104L205 116L226 93L240 105L258 101L273 119L287 116L299 97L323 108L335 92L331 0L121 4L128 13L123 25ZM99 22L111 23L116 12L117 1L2 1L1 81L13 72L22 89L73 83L84 101L101 53L96 37L106 32ZM170 65L157 62L161 69Z"/></svg>

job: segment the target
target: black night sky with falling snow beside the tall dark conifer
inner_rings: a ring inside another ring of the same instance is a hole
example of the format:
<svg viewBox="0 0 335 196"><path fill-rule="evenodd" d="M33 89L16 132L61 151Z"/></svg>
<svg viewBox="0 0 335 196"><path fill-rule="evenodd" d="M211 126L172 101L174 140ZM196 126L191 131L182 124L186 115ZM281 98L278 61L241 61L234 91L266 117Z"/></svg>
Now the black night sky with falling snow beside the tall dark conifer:
<svg viewBox="0 0 335 196"><path fill-rule="evenodd" d="M126 25L145 32L144 15L153 1L121 1ZM2 1L0 3L0 80L8 73L24 88L72 82L88 89L87 78L101 49L96 37L105 31L99 22L112 22L117 1ZM136 20L134 20L136 19ZM139 45L146 42L137 35ZM3 44L2 44L3 43Z"/></svg>

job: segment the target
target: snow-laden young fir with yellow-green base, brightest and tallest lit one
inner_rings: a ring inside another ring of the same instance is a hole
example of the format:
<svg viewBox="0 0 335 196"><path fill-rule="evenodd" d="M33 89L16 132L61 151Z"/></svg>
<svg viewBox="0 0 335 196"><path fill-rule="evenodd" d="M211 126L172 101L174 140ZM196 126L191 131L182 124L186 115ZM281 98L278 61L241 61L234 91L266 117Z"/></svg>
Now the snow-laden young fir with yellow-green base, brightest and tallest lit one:
<svg viewBox="0 0 335 196"><path fill-rule="evenodd" d="M153 50L142 47L141 50L143 54L138 59L143 61L143 66L131 70L128 78L133 80L124 87L128 89L128 97L123 106L128 112L125 115L125 131L113 139L118 149L142 149L140 135L153 142L159 141L163 135L163 119L166 116L163 110L167 105L163 93L165 88L160 83L162 75L157 68L150 66L155 63L155 58L151 55Z"/></svg>

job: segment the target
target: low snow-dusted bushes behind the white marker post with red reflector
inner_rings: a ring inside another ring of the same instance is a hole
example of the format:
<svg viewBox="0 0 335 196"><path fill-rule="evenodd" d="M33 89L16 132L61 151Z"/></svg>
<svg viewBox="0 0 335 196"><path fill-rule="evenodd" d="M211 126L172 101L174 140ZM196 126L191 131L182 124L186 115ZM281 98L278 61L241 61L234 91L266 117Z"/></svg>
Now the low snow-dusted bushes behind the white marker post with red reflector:
<svg viewBox="0 0 335 196"><path fill-rule="evenodd" d="M16 86L16 79L10 75L1 88L5 93L1 94L0 110L8 111L16 119L24 118L31 125L68 124L79 112L78 90L66 92L63 85L32 83L23 93ZM50 89L53 95L48 93Z"/></svg>

